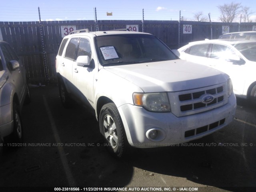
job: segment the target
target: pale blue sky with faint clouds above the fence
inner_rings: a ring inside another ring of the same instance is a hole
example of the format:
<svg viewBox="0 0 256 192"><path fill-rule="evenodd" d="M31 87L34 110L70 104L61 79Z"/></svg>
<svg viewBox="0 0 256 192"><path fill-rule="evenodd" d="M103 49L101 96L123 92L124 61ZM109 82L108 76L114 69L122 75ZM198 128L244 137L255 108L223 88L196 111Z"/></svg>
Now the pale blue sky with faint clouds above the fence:
<svg viewBox="0 0 256 192"><path fill-rule="evenodd" d="M195 20L194 14L202 12L212 22L220 22L217 6L230 4L230 0L0 0L0 21L39 21L38 7L42 21L51 20ZM255 0L234 0L254 12L250 19L256 22ZM107 16L107 12L112 16ZM239 22L240 16L236 22Z"/></svg>

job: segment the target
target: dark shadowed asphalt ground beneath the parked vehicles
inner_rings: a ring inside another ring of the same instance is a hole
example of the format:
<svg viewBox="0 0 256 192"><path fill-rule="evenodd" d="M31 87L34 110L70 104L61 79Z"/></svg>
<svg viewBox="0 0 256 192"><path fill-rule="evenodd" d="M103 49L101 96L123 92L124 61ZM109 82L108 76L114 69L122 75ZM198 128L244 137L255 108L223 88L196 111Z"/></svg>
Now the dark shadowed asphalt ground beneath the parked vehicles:
<svg viewBox="0 0 256 192"><path fill-rule="evenodd" d="M24 143L4 146L1 192L256 191L256 106L247 100L237 99L234 121L214 134L183 146L133 148L120 160L104 147L94 114L76 102L64 108L57 85L31 88L31 96L22 109Z"/></svg>

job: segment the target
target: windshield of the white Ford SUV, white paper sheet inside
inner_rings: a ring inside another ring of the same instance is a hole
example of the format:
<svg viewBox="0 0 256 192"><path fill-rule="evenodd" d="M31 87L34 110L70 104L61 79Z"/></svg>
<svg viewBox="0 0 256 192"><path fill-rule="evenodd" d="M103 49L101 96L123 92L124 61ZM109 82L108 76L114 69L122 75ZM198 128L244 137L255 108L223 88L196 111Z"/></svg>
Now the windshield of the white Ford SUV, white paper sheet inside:
<svg viewBox="0 0 256 192"><path fill-rule="evenodd" d="M102 65L123 65L178 59L153 35L117 34L96 37L96 48Z"/></svg>

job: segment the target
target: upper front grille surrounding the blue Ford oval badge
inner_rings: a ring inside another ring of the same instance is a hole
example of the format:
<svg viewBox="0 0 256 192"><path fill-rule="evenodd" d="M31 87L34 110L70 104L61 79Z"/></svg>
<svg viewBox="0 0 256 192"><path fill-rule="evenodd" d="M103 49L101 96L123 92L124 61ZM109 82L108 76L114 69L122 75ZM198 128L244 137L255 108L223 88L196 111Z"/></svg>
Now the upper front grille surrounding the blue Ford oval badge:
<svg viewBox="0 0 256 192"><path fill-rule="evenodd" d="M207 95L213 96L214 99L210 103L203 103L202 98ZM228 102L227 85L222 83L193 90L170 92L169 98L172 113L178 117L200 113L223 106Z"/></svg>

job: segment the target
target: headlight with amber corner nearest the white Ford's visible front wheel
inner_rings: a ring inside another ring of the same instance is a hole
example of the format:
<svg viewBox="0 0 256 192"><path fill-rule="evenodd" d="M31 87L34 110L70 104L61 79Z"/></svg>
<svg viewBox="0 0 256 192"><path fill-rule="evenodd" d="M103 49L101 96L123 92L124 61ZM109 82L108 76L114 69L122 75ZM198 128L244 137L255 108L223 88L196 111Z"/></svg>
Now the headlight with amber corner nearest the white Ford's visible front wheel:
<svg viewBox="0 0 256 192"><path fill-rule="evenodd" d="M134 93L133 102L152 112L170 112L171 106L167 93Z"/></svg>

